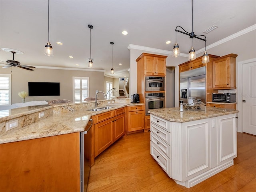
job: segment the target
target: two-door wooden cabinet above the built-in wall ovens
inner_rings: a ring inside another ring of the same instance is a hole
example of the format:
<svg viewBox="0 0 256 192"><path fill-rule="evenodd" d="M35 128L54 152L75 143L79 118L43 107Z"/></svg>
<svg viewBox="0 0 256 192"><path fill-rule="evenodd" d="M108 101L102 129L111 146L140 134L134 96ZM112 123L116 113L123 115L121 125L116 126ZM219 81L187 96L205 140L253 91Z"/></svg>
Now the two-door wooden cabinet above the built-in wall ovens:
<svg viewBox="0 0 256 192"><path fill-rule="evenodd" d="M166 76L166 57L142 53L136 59L136 62L137 65L141 66L142 70L144 69L144 75Z"/></svg>

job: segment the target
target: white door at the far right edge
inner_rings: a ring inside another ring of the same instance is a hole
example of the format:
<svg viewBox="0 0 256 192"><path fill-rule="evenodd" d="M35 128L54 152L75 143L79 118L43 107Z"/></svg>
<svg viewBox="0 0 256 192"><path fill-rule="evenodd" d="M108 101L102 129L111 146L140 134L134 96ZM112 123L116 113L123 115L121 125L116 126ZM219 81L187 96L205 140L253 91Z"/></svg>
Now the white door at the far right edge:
<svg viewBox="0 0 256 192"><path fill-rule="evenodd" d="M256 61L242 65L242 129L256 135Z"/></svg>

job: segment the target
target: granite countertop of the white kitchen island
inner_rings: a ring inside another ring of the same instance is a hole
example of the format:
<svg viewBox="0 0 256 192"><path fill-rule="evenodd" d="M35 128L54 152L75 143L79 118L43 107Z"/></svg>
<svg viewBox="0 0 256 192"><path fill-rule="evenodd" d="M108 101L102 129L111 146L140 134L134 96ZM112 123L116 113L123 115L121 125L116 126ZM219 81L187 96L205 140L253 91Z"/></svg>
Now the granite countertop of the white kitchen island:
<svg viewBox="0 0 256 192"><path fill-rule="evenodd" d="M238 110L234 109L224 109L208 106L203 106L200 110L187 110L185 108L183 108L183 110L183 112L180 112L179 107L164 108L150 110L149 113L172 122L188 122L239 112Z"/></svg>

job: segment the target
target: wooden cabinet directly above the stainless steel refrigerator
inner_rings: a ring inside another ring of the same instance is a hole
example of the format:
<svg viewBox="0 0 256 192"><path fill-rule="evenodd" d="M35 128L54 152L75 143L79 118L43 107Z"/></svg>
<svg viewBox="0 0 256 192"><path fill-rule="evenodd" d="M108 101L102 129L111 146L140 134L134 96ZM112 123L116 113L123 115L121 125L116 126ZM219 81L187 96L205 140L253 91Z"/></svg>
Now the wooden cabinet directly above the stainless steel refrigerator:
<svg viewBox="0 0 256 192"><path fill-rule="evenodd" d="M215 59L215 58L218 58L218 57L219 56L209 54L210 61ZM184 72L184 71L200 68L200 67L203 67L203 66L206 66L206 64L202 63L202 56L201 56L201 57L199 57L195 60L188 61L186 63L180 64L179 69L180 69L180 72Z"/></svg>

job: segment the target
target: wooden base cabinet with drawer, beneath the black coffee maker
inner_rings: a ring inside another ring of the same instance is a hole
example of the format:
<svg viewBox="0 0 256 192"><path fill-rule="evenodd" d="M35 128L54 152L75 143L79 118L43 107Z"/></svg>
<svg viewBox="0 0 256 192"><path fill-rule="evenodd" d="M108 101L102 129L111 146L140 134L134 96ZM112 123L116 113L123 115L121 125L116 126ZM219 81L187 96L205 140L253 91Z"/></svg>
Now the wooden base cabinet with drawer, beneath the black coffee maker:
<svg viewBox="0 0 256 192"><path fill-rule="evenodd" d="M128 132L144 130L144 105L128 106Z"/></svg>

